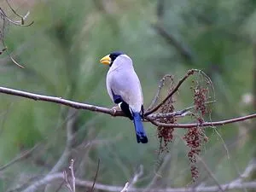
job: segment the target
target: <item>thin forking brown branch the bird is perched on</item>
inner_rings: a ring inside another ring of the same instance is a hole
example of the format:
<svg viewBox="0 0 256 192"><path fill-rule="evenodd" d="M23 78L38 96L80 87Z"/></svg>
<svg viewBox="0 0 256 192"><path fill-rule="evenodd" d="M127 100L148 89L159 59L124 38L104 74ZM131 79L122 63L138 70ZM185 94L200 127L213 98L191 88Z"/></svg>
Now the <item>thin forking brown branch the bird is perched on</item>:
<svg viewBox="0 0 256 192"><path fill-rule="evenodd" d="M174 92L176 92L179 89L179 87L183 83L183 81L185 79L187 79L189 77L189 75L191 75L191 73L194 73L194 72L195 72L195 70L189 70L187 75L184 76L183 79L181 79L179 81L179 83L172 90L172 92L168 96L166 96L166 98L162 102L160 102L160 104L158 106L156 106L152 110L148 111L148 113L145 113L145 119L150 121L152 124L157 125L157 126L189 129L189 128L198 127L198 126L206 127L206 126L226 125L226 124L231 124L231 123L236 123L236 122L239 122L239 121L243 121L243 120L246 120L246 119L256 118L256 113L253 113L253 114L249 114L247 116L242 116L242 117L238 117L238 118L234 118L234 119L226 119L226 120L221 120L221 121L216 121L216 122L203 122L201 124L199 124L199 123L165 124L165 123L160 123L158 121L155 121L154 119L156 119L157 117L160 117L161 115L164 115L165 117L173 117L173 116L177 116L177 115L183 115L183 113L181 113L182 111L178 111L176 113L168 113L168 114L162 114L162 113L150 114L150 113L153 113L158 108L160 108L160 105L162 105L164 102L166 102L166 100L170 96L172 96ZM70 101L70 100L67 100L67 99L62 99L61 97L44 96L44 95L34 94L34 93L21 91L21 90L13 90L13 89L5 88L5 87L0 87L0 92L4 93L4 94L12 95L12 96L25 97L25 98L32 99L32 100L35 100L35 101L54 102L54 103L59 103L61 105L65 105L65 106L68 106L68 107L71 107L71 108L85 109L85 110L94 111L94 112L98 112L98 113L110 114L112 116L125 117L125 114L122 111L116 111L116 110L113 110L111 108L104 108L104 107L90 105L90 104L81 103L81 102L73 102L73 101Z"/></svg>

